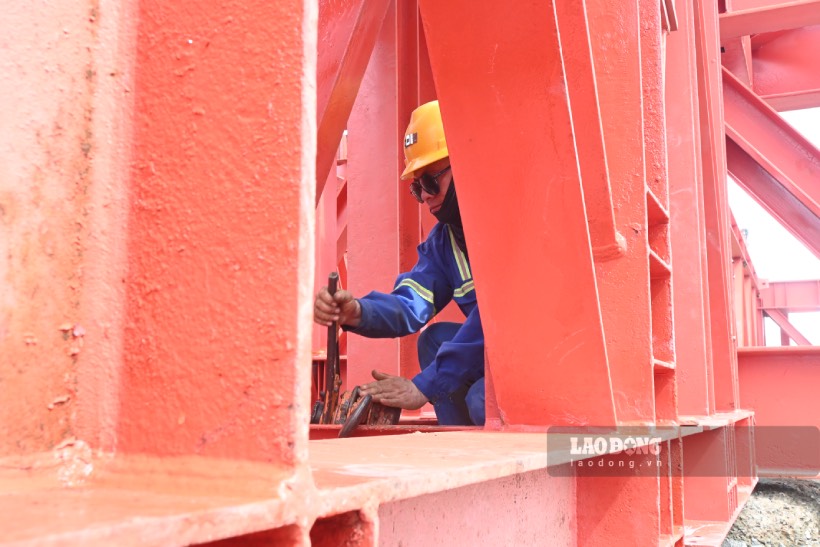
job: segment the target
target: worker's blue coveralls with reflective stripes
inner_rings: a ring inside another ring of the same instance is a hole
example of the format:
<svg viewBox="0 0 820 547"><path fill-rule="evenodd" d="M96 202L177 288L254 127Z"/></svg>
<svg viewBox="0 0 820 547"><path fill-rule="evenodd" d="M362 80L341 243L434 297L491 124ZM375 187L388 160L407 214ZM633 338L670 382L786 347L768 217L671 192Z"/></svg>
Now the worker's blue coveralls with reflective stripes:
<svg viewBox="0 0 820 547"><path fill-rule="evenodd" d="M470 263L446 224L418 246L419 259L390 294L359 299L362 317L351 332L394 338L420 330L455 300L464 323L434 323L419 337L421 372L413 383L433 403L440 425L484 423L484 333Z"/></svg>

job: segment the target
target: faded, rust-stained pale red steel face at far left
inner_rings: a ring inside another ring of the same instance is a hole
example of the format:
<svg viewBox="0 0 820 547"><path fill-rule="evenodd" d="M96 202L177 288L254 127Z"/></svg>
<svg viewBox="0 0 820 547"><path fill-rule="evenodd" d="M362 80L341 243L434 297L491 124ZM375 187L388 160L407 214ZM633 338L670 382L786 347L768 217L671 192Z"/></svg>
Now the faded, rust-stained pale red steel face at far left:
<svg viewBox="0 0 820 547"><path fill-rule="evenodd" d="M134 53L88 45L99 33L102 50L125 46L133 28L122 24L123 36L113 22L100 28L78 1L10 7L0 21L3 456L79 434L116 445L108 378L121 369L127 193L109 179L129 165L122 101Z"/></svg>

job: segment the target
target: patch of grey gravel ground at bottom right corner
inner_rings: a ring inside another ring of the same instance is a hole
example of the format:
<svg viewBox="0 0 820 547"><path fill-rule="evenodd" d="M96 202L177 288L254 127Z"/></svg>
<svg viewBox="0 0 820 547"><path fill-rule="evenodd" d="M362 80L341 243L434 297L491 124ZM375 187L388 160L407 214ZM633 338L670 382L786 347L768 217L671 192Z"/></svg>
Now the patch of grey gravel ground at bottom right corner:
<svg viewBox="0 0 820 547"><path fill-rule="evenodd" d="M722 547L820 547L820 481L760 479Z"/></svg>

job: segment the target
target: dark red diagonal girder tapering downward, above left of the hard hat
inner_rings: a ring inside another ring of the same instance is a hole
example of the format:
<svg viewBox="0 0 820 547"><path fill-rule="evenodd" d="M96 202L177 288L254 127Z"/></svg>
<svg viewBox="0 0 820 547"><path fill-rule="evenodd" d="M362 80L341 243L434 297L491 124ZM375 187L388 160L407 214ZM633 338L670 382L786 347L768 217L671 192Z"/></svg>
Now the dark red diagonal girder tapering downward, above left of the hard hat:
<svg viewBox="0 0 820 547"><path fill-rule="evenodd" d="M324 190L390 0L319 3L316 202Z"/></svg>

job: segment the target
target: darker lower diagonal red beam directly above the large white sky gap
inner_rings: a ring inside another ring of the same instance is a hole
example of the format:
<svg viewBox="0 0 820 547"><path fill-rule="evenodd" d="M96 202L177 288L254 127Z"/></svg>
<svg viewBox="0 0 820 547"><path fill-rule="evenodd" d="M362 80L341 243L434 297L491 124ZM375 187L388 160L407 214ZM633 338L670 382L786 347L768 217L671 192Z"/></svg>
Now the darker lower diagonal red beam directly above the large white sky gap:
<svg viewBox="0 0 820 547"><path fill-rule="evenodd" d="M820 222L817 215L730 138L726 139L726 163L729 174L737 183L820 257Z"/></svg>

